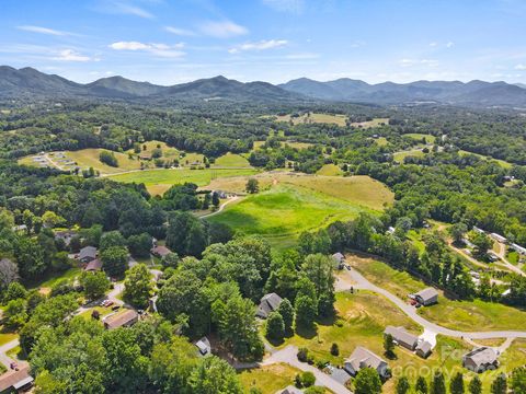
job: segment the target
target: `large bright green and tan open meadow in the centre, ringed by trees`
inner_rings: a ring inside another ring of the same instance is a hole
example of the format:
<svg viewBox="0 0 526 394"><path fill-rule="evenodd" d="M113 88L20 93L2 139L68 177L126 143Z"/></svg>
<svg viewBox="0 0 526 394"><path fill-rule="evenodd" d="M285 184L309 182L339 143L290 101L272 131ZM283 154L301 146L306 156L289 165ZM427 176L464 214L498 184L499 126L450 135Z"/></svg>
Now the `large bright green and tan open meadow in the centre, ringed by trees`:
<svg viewBox="0 0 526 394"><path fill-rule="evenodd" d="M379 210L384 202L390 202L391 197L385 186L374 184L367 177L361 178L364 181L361 183L345 183L342 181L347 178L324 176L276 175L272 181L267 177L263 179L268 182L265 184L260 179L263 192L227 206L209 220L228 224L242 234L261 234L274 245L284 247L294 245L302 231L318 230L336 220L351 220L362 211ZM207 188L235 192L244 187L244 178L235 179L237 184L231 183L230 187L228 181L213 182ZM340 186L332 187L336 184ZM237 187L231 187L233 185ZM385 200L378 200L378 196L376 201L368 200L363 193L364 185L385 192Z"/></svg>

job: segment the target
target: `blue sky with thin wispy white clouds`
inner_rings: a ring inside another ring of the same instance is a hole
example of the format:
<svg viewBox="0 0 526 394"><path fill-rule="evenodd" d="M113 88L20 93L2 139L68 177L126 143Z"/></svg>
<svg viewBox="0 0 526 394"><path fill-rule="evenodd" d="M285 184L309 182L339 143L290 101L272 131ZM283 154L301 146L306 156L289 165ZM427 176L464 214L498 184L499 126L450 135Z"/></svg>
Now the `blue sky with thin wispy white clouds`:
<svg viewBox="0 0 526 394"><path fill-rule="evenodd" d="M523 0L2 0L0 65L78 82L526 82Z"/></svg>

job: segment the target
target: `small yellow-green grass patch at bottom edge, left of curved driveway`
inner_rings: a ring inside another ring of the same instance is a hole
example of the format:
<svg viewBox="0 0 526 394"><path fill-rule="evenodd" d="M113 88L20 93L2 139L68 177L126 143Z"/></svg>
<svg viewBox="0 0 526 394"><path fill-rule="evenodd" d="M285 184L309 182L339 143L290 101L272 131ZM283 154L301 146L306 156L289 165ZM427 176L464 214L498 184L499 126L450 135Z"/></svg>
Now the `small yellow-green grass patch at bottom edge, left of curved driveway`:
<svg viewBox="0 0 526 394"><path fill-rule="evenodd" d="M241 384L247 390L258 387L263 394L274 394L278 390L294 384L294 376L301 371L285 363L276 363L244 370L239 374Z"/></svg>

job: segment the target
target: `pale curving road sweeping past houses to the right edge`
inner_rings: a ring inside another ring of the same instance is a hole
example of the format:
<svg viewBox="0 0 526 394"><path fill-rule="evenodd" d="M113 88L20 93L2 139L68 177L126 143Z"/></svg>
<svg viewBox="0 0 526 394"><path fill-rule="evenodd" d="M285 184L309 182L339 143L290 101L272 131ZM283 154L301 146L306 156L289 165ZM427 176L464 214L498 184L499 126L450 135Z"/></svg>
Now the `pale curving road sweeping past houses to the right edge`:
<svg viewBox="0 0 526 394"><path fill-rule="evenodd" d="M414 308L413 305L405 303L397 296L369 282L362 274L356 271L356 269L353 268L352 270L345 270L345 273L347 273L352 280L356 282L356 285L354 286L355 289L370 290L386 297L388 300L395 303L403 313L405 313L414 322L424 327L424 329L427 332L442 334L450 337L470 339L526 338L526 332L522 331L461 332L439 326L419 315L416 313L416 308Z"/></svg>

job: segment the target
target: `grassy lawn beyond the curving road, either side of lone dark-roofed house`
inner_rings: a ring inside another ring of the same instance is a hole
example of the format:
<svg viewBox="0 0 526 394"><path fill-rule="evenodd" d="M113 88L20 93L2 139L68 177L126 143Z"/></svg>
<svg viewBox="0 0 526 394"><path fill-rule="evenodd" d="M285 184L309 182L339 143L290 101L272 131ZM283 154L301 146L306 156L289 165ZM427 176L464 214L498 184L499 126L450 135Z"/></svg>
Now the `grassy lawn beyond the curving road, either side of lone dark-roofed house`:
<svg viewBox="0 0 526 394"><path fill-rule="evenodd" d="M350 254L347 262L373 283L401 299L427 286L405 271L391 268L378 259ZM444 327L466 332L524 329L526 311L501 303L449 300L442 292L436 305L421 308L419 313Z"/></svg>

